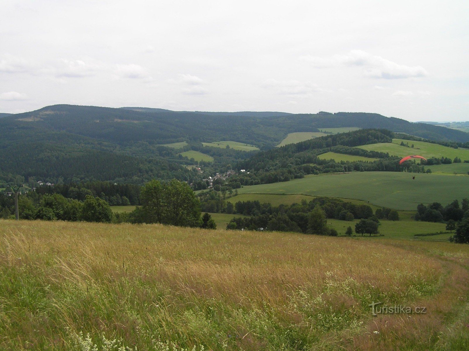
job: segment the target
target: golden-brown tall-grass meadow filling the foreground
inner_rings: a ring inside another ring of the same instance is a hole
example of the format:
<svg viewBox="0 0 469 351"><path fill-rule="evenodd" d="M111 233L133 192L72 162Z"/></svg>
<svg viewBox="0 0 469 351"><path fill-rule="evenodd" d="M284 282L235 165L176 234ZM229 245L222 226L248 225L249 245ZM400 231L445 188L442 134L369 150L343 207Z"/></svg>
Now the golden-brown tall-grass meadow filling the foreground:
<svg viewBox="0 0 469 351"><path fill-rule="evenodd" d="M60 221L0 236L2 350L469 347L469 245Z"/></svg>

